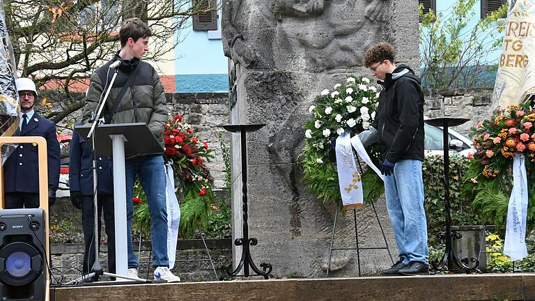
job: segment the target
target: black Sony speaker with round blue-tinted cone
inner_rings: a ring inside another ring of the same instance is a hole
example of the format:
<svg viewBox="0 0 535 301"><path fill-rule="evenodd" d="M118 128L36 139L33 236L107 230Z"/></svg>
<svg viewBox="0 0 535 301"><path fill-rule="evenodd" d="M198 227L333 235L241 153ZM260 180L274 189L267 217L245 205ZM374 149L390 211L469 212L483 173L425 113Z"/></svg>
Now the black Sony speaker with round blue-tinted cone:
<svg viewBox="0 0 535 301"><path fill-rule="evenodd" d="M42 209L0 210L0 300L45 300L45 225Z"/></svg>

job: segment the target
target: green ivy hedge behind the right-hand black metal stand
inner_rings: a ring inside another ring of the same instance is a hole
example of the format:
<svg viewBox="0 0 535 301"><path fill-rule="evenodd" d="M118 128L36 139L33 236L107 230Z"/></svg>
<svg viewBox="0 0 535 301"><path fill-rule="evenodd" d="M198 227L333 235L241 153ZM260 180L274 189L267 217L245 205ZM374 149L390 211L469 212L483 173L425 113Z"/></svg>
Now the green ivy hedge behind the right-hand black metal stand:
<svg viewBox="0 0 535 301"><path fill-rule="evenodd" d="M460 155L449 157L449 203L451 224L457 226L480 224L479 216L470 208L470 201L461 194L463 173L470 160ZM427 156L422 165L428 236L435 245L438 233L444 232L446 212L444 207L444 157Z"/></svg>

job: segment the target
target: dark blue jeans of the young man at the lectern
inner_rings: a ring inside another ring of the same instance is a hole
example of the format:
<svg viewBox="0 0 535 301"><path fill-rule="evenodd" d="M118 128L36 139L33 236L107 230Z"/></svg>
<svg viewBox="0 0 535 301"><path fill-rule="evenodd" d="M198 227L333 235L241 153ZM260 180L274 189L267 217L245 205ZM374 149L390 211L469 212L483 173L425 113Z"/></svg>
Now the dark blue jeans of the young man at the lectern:
<svg viewBox="0 0 535 301"><path fill-rule="evenodd" d="M132 246L132 216L134 215L134 182L139 178L147 196L150 213L150 241L153 245L153 267L169 266L167 257L167 212L165 201L165 168L161 155L146 155L126 160L126 221L128 236L128 268L137 268Z"/></svg>

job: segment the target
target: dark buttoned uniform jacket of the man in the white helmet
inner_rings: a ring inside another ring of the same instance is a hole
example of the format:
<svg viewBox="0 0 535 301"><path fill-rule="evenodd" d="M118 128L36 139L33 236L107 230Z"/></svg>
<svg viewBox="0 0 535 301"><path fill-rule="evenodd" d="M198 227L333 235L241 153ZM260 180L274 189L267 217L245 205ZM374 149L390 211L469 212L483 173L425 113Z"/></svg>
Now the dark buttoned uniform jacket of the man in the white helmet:
<svg viewBox="0 0 535 301"><path fill-rule="evenodd" d="M48 186L59 184L59 142L56 125L34 113L24 132L17 130L15 136L40 136L47 140ZM20 144L3 164L3 187L5 192L39 192L39 164L37 144ZM45 192L47 193L47 192Z"/></svg>

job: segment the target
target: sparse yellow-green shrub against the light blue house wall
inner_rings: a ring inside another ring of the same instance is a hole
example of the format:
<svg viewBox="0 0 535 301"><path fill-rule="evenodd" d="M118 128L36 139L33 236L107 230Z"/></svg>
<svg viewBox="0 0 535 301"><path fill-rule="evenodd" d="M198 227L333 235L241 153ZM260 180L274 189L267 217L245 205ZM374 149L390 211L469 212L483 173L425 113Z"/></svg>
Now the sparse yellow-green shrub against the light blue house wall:
<svg viewBox="0 0 535 301"><path fill-rule="evenodd" d="M487 56L501 45L505 26L502 16L509 4L469 29L470 21L479 17L474 10L476 3L458 0L448 15L433 10L423 14L420 4L420 60L424 65L421 77L426 88L493 86L495 79L488 77L488 72L495 69L495 62Z"/></svg>

